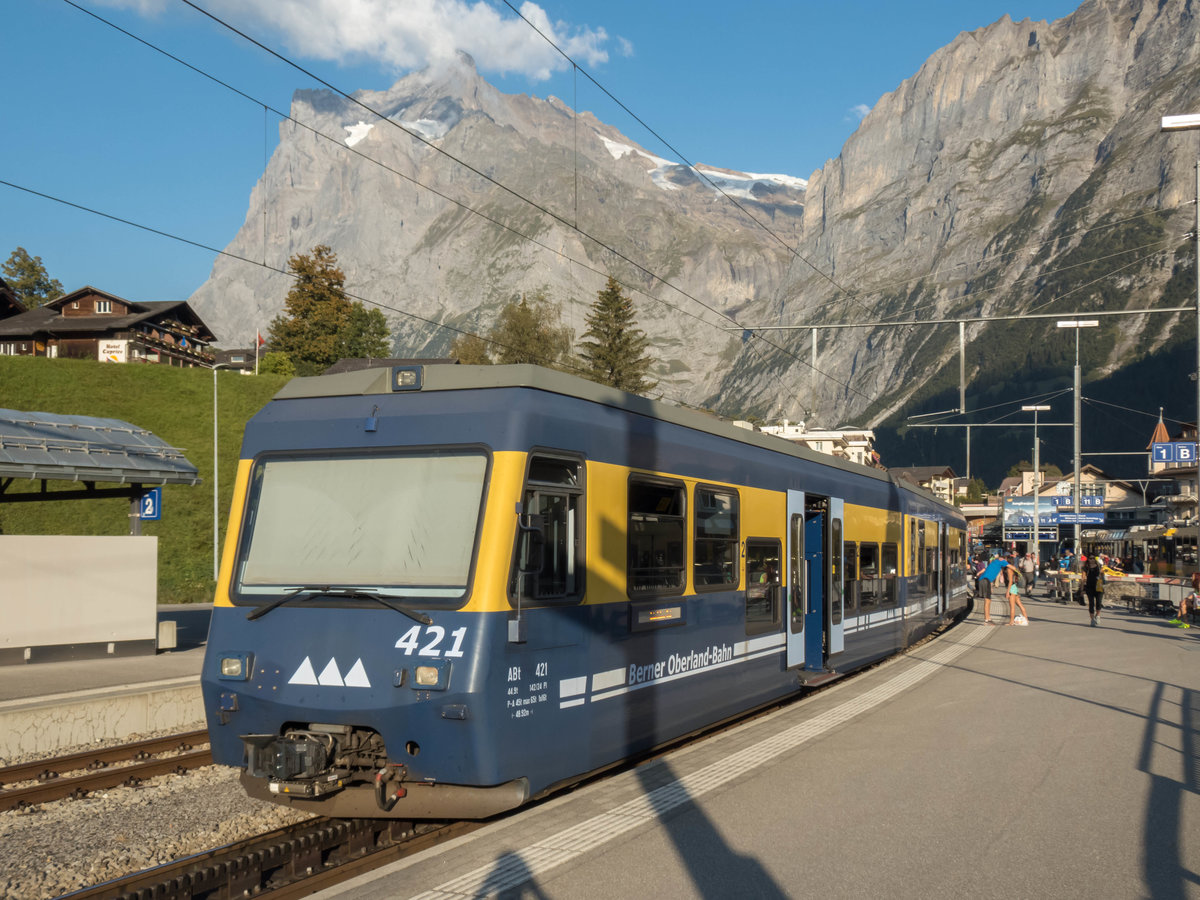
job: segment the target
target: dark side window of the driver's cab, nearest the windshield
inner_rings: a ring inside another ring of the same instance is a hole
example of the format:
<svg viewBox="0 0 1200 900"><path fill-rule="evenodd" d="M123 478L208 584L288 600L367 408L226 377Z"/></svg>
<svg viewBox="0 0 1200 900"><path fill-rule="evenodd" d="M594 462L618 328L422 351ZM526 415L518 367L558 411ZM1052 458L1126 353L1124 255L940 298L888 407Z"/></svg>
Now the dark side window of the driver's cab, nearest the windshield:
<svg viewBox="0 0 1200 900"><path fill-rule="evenodd" d="M522 600L578 599L583 594L583 461L532 455L523 496L524 512L536 517L542 539L528 542L518 535L510 599L516 601L518 578ZM526 558L530 552L540 553L540 559Z"/></svg>

